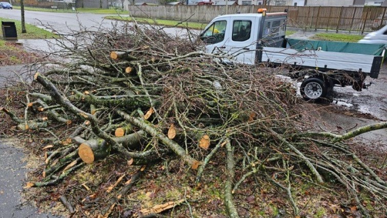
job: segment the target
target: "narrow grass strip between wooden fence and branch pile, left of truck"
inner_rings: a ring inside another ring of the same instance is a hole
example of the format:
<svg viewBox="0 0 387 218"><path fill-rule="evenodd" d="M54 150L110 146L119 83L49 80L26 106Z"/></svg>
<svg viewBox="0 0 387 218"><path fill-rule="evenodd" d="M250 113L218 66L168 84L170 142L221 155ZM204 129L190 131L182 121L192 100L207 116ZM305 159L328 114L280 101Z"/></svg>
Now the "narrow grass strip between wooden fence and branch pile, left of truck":
<svg viewBox="0 0 387 218"><path fill-rule="evenodd" d="M106 19L114 19L116 21L128 21L133 22L133 17L121 17L121 16L106 16ZM173 27L176 26L179 21L171 21L168 19L150 19L150 18L135 18L137 23L142 24L158 24L160 26ZM203 29L207 26L207 24L198 23L198 22L184 22L183 24L179 24L178 27L188 27L191 29Z"/></svg>

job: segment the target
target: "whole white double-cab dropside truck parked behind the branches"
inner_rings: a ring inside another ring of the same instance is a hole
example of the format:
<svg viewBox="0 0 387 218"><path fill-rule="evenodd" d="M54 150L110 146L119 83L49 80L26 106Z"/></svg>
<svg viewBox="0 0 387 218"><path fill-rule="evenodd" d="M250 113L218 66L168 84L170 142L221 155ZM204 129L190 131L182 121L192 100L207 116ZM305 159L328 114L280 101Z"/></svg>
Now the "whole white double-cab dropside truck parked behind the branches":
<svg viewBox="0 0 387 218"><path fill-rule="evenodd" d="M300 93L305 100L328 98L334 86L350 85L360 91L366 87L366 76L378 77L384 45L378 45L382 48L378 54L364 53L365 47L358 52L332 52L308 46L312 41L306 44L299 41L291 46L290 39L285 37L286 21L286 12L266 13L266 10L222 15L210 22L200 38L206 43L206 52L231 54L232 58L226 62L287 66L293 72L291 77L303 80ZM301 49L300 43L304 44ZM344 45L348 46L351 44Z"/></svg>

